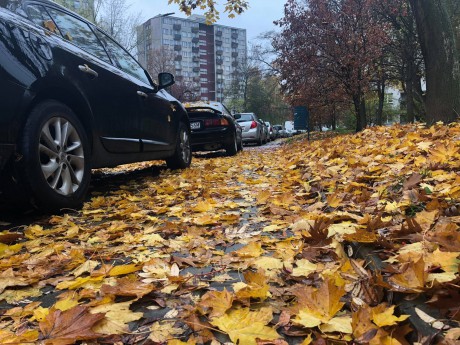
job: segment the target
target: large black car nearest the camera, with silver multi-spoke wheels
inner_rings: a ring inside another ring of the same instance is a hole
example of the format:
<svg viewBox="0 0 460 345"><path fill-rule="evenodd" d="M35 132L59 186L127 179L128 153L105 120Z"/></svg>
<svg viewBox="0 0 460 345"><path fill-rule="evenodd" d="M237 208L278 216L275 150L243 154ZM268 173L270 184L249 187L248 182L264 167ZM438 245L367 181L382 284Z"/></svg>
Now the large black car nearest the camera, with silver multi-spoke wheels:
<svg viewBox="0 0 460 345"><path fill-rule="evenodd" d="M0 189L74 208L92 168L191 162L190 123L116 41L46 0L0 0ZM19 187L19 188L17 188Z"/></svg>

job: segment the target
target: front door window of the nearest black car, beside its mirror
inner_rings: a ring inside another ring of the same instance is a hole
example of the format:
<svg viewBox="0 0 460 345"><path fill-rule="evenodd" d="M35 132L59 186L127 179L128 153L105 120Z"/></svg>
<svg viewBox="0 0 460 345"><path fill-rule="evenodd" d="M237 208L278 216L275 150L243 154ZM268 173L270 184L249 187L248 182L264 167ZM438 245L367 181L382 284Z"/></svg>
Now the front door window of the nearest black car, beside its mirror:
<svg viewBox="0 0 460 345"><path fill-rule="evenodd" d="M106 34L97 31L99 39L104 44L105 48L113 59L114 63L124 72L132 75L133 77L143 81L146 84L150 84L144 69L139 63L124 50L118 43L112 40Z"/></svg>

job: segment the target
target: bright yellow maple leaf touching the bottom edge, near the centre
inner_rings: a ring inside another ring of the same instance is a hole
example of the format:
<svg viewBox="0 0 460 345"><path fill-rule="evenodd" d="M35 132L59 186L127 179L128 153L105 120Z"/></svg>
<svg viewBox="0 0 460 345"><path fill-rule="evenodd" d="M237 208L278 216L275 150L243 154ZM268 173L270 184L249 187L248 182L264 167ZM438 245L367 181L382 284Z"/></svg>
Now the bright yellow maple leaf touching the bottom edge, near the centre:
<svg viewBox="0 0 460 345"><path fill-rule="evenodd" d="M257 345L256 339L275 340L280 335L266 326L273 315L271 308L250 311L249 308L230 310L225 315L211 320L211 324L228 334L236 344Z"/></svg>

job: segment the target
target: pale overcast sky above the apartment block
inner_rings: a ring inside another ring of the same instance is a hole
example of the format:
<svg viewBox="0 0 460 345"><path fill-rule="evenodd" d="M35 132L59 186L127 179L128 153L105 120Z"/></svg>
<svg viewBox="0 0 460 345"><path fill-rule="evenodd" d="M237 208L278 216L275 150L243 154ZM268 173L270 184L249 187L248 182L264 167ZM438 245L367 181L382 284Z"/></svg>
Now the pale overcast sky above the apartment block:
<svg viewBox="0 0 460 345"><path fill-rule="evenodd" d="M218 0L217 2L224 3L224 0ZM186 15L179 11L179 6L177 4L168 5L168 0L131 0L131 3L133 11L142 12L144 21L157 14L169 12L175 12L175 17L186 18ZM277 27L273 24L273 21L283 17L285 1L250 0L249 4L250 8L245 13L233 19L228 18L227 14L221 10L222 7L219 7L220 20L218 24L246 29L248 41L251 42L263 32L276 30ZM200 12L196 13L201 14Z"/></svg>

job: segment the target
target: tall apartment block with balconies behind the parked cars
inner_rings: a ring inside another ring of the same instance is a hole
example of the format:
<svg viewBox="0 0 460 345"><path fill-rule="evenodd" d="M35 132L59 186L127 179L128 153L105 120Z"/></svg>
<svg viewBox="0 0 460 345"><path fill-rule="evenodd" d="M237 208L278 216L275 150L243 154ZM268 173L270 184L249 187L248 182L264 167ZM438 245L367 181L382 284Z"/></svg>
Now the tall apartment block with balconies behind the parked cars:
<svg viewBox="0 0 460 345"><path fill-rule="evenodd" d="M164 69L197 100L223 101L247 57L245 29L208 25L199 15L153 17L137 28L137 42L139 62L148 71L169 63ZM160 54L162 59L155 59Z"/></svg>

